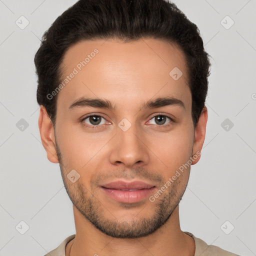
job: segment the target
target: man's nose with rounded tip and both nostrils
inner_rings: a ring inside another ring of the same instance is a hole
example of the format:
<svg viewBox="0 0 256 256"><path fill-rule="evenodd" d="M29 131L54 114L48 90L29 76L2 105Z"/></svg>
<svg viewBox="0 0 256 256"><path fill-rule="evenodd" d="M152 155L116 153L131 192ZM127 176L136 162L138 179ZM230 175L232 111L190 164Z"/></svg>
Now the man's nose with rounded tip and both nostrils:
<svg viewBox="0 0 256 256"><path fill-rule="evenodd" d="M142 130L136 125L131 125L124 131L117 127L110 148L110 162L114 165L125 167L142 166L149 161L149 148L146 146L146 138Z"/></svg>

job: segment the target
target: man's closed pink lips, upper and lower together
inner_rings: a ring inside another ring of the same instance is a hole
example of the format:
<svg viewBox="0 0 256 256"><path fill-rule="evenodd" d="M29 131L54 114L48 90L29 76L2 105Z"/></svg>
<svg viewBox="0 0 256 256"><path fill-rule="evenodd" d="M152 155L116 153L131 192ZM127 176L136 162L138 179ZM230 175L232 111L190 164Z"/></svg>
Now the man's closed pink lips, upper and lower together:
<svg viewBox="0 0 256 256"><path fill-rule="evenodd" d="M155 185L142 181L125 182L121 180L104 184L100 188L116 201L126 203L139 202L156 189Z"/></svg>

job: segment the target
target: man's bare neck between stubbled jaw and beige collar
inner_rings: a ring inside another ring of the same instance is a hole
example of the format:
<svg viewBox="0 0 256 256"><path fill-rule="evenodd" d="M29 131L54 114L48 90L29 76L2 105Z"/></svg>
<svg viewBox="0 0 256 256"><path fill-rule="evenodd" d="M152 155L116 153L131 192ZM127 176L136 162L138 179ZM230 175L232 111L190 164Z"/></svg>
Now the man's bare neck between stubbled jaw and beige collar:
<svg viewBox="0 0 256 256"><path fill-rule="evenodd" d="M178 206L153 233L139 238L114 238L102 233L73 205L76 234L65 248L66 256L193 256L192 237L181 231Z"/></svg>

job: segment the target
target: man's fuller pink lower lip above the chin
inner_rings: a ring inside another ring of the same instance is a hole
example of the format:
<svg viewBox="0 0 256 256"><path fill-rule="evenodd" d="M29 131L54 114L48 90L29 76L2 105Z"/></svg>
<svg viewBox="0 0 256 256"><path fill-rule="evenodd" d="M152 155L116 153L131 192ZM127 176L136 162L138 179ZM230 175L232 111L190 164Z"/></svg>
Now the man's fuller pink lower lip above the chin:
<svg viewBox="0 0 256 256"><path fill-rule="evenodd" d="M101 186L101 189L110 197L119 202L139 202L143 200L145 197L149 196L153 190L155 190L155 186L151 188L143 188L135 191L122 191L118 189L105 188Z"/></svg>

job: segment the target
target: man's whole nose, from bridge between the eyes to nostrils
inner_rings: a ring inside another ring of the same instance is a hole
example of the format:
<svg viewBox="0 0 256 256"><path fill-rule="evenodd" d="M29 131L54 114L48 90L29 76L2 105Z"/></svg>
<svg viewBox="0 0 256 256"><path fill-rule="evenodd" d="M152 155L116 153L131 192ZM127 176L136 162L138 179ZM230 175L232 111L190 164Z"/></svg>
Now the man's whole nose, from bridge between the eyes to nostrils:
<svg viewBox="0 0 256 256"><path fill-rule="evenodd" d="M132 166L138 161L148 161L148 152L142 143L142 133L135 123L122 119L118 123L115 142L111 148L110 161L114 164L122 162L126 166Z"/></svg>

